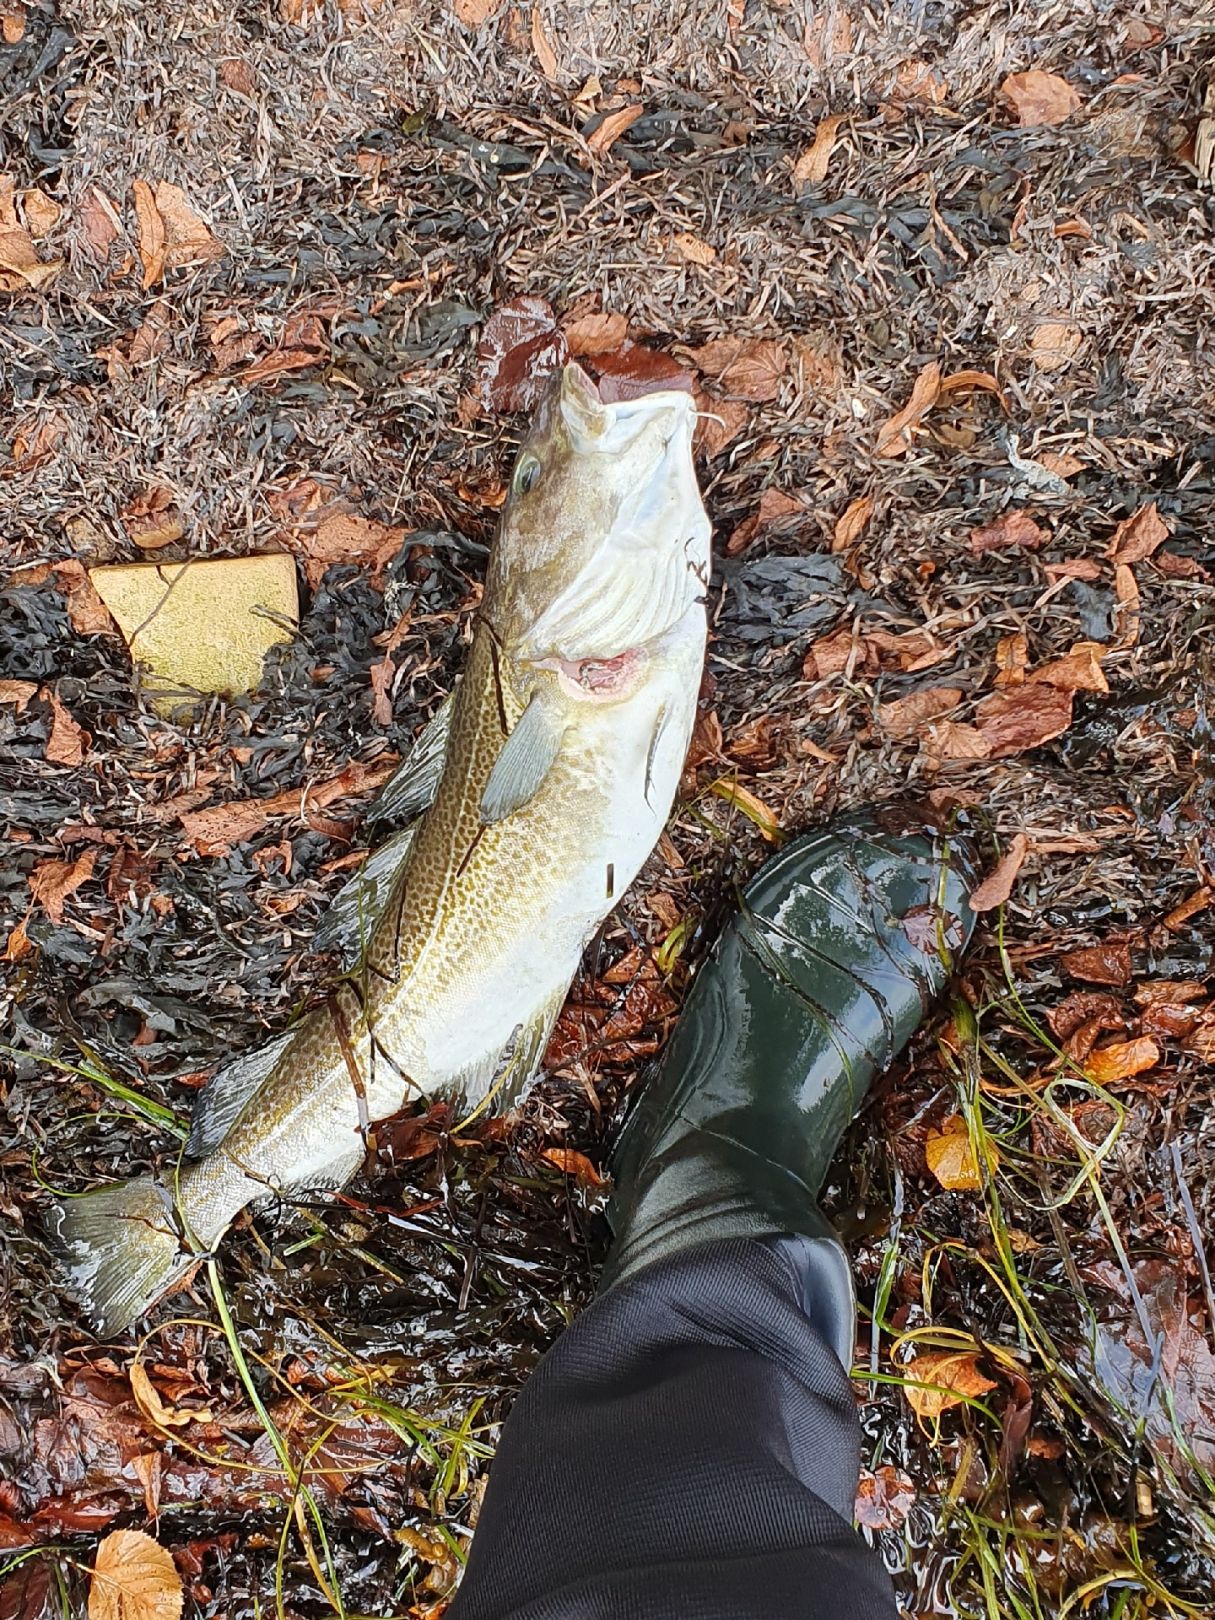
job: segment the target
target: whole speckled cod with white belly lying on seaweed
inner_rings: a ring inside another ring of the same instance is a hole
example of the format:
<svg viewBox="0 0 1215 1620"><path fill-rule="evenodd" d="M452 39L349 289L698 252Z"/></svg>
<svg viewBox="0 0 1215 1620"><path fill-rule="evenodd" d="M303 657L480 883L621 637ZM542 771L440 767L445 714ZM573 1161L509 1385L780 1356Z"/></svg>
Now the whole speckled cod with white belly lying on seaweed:
<svg viewBox="0 0 1215 1620"><path fill-rule="evenodd" d="M353 962L220 1069L183 1162L73 1197L75 1291L122 1332L261 1199L340 1187L413 1100L510 1106L582 953L654 847L705 661L690 394L604 402L577 364L520 449L468 661L386 794L423 808L339 897Z"/></svg>

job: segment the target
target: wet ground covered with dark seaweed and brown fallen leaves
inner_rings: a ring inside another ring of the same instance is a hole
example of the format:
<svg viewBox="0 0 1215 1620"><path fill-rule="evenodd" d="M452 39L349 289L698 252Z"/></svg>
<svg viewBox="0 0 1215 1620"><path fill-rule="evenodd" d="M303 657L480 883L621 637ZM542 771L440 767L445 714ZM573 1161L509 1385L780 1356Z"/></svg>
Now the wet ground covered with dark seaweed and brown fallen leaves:
<svg viewBox="0 0 1215 1620"><path fill-rule="evenodd" d="M0 172L62 266L0 292L0 679L36 687L0 701L0 1545L36 1550L0 1615L79 1612L117 1524L172 1549L191 1620L437 1612L494 1426L590 1294L622 1097L732 880L773 828L909 792L967 805L991 860L1027 852L833 1176L862 1523L909 1614L1205 1614L1210 18L484 10L32 5L2 36ZM1074 87L1066 123L1016 122L1000 86L1027 68ZM828 115L826 167L795 181ZM141 285L134 180L180 185L224 254L196 238ZM457 1140L442 1113L402 1121L342 1200L225 1244L248 1382L206 1272L146 1340L99 1345L45 1254L50 1189L165 1163L207 1069L322 987L309 944L368 784L467 645L522 426L478 403L476 337L520 293L565 326L627 316L723 418L711 680L669 839L518 1118ZM932 363L987 381L876 454ZM47 569L136 557L152 489L181 518L167 561L309 562L266 688L188 726ZM326 572L327 501L386 526L382 575ZM1118 562L1152 502L1168 538ZM975 539L1019 512L1037 536ZM1074 685L1037 685L1063 692L1047 713L1025 671L1077 643L1102 679L1081 654ZM183 821L339 778L306 818L243 813L222 854ZM45 862L89 855L62 906L34 899ZM949 1134L977 1186L932 1170ZM909 1361L933 1354L972 1405L917 1416Z"/></svg>

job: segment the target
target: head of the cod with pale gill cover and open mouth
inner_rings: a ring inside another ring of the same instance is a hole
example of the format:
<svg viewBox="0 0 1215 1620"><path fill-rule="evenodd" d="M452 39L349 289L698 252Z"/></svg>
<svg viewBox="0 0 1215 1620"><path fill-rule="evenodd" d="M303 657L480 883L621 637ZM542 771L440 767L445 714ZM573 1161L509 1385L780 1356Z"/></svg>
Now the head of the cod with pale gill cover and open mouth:
<svg viewBox="0 0 1215 1620"><path fill-rule="evenodd" d="M518 663L612 667L703 601L710 523L693 399L604 400L570 363L518 452L483 612ZM586 685L586 682L582 682Z"/></svg>

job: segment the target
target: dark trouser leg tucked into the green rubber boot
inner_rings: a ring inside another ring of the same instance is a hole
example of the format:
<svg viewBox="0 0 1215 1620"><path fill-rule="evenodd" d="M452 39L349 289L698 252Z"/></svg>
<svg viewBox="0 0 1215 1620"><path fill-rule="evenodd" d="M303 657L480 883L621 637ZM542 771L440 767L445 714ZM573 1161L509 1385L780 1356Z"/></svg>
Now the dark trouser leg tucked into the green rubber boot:
<svg viewBox="0 0 1215 1620"><path fill-rule="evenodd" d="M450 1620L894 1620L852 1529L839 1265L739 1239L603 1293L505 1422Z"/></svg>

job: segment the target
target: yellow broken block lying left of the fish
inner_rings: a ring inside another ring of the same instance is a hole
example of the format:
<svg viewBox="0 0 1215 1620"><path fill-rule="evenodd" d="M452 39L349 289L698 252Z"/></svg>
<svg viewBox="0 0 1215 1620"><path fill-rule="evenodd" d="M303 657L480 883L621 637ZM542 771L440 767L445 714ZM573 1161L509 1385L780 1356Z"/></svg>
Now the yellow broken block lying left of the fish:
<svg viewBox="0 0 1215 1620"><path fill-rule="evenodd" d="M211 557L89 569L162 714L198 693L253 692L300 620L295 559Z"/></svg>

